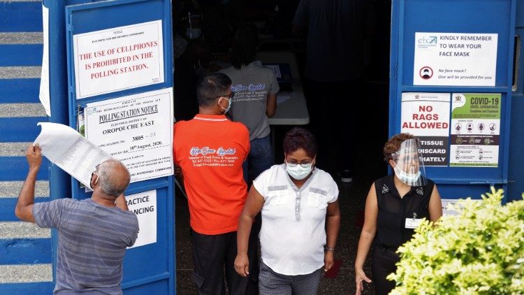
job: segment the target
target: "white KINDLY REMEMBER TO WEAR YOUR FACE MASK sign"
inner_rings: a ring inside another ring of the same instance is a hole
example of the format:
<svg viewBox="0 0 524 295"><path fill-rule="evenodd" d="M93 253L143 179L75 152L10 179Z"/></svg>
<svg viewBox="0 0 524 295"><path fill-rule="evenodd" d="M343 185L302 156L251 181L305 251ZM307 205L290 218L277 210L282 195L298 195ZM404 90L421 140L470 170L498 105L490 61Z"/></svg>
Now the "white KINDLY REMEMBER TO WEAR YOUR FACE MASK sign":
<svg viewBox="0 0 524 295"><path fill-rule="evenodd" d="M416 32L413 85L495 86L497 37Z"/></svg>

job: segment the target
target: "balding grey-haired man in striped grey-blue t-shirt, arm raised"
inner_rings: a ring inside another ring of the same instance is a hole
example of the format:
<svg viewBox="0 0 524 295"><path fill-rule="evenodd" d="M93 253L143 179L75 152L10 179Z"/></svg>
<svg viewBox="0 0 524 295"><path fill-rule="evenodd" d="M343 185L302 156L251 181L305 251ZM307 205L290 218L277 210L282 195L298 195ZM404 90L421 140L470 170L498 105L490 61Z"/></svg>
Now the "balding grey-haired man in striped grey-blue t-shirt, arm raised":
<svg viewBox="0 0 524 295"><path fill-rule="evenodd" d="M20 190L15 215L40 227L58 230L57 285L54 294L122 294L122 261L138 236L138 219L129 212L124 190L129 171L108 159L91 176L90 199L34 203L41 147L27 148L29 173Z"/></svg>

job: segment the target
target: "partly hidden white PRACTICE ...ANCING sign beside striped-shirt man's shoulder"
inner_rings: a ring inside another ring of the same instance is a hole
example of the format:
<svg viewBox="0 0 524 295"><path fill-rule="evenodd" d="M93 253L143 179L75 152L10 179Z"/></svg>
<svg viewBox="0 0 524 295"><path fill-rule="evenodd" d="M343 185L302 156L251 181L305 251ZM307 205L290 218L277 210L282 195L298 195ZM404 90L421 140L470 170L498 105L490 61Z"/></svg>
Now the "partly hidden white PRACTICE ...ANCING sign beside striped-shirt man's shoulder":
<svg viewBox="0 0 524 295"><path fill-rule="evenodd" d="M157 243L157 191L131 194L126 196L126 202L129 211L138 217L140 228L135 245L128 249Z"/></svg>

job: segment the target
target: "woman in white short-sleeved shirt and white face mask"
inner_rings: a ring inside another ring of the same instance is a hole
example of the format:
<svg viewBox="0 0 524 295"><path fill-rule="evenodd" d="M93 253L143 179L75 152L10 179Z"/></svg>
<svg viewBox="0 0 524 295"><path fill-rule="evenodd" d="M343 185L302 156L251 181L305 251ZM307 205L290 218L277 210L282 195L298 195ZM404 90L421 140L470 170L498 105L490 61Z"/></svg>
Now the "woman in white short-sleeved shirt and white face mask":
<svg viewBox="0 0 524 295"><path fill-rule="evenodd" d="M235 270L249 274L249 233L261 212L260 294L316 294L322 269L334 263L338 188L314 166L316 142L310 131L291 129L284 136L284 157L284 164L261 173L249 191L238 224Z"/></svg>

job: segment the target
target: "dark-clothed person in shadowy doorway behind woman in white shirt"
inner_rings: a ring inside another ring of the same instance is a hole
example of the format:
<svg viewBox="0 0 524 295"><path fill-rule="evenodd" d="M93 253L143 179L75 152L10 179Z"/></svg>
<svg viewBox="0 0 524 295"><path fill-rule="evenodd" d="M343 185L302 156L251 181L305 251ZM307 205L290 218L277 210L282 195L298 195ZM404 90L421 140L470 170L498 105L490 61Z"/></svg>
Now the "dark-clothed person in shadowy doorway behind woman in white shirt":
<svg viewBox="0 0 524 295"><path fill-rule="evenodd" d="M305 36L304 90L310 125L319 140L319 167L351 182L355 147L363 126L365 0L300 0L293 34ZM338 138L333 144L333 138Z"/></svg>

